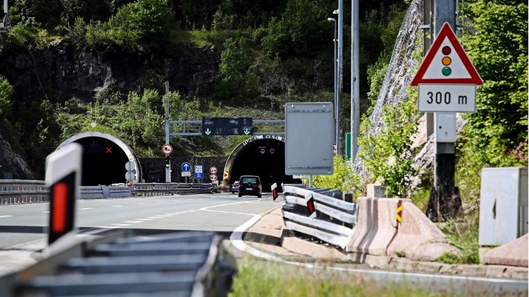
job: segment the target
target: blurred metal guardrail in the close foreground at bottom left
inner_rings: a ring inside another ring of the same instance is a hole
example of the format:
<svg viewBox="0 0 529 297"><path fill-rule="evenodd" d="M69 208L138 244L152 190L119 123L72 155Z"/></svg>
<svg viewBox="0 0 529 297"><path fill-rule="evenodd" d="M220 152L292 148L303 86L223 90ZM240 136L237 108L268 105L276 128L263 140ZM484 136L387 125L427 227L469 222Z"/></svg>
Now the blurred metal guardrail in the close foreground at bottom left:
<svg viewBox="0 0 529 297"><path fill-rule="evenodd" d="M235 269L212 232L109 233L0 278L0 296L228 296Z"/></svg>

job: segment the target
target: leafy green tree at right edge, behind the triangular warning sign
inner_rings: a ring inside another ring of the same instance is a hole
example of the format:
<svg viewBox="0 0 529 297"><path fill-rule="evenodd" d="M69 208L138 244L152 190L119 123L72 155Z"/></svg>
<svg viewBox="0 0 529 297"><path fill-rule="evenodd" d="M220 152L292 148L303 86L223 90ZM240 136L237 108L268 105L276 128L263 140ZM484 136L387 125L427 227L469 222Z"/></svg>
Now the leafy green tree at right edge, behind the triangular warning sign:
<svg viewBox="0 0 529 297"><path fill-rule="evenodd" d="M466 137L492 166L526 164L528 142L527 1L472 0L472 29L463 45L483 86ZM517 161L505 162L504 155Z"/></svg>

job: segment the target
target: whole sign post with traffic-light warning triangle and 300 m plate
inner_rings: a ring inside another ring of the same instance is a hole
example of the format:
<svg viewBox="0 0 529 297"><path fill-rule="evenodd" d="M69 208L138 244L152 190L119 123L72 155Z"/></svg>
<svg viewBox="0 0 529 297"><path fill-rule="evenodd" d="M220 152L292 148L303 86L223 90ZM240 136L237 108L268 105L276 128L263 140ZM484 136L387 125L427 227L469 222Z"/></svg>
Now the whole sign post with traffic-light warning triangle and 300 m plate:
<svg viewBox="0 0 529 297"><path fill-rule="evenodd" d="M461 209L454 184L455 113L476 110L476 86L483 84L455 35L455 6L447 2L453 1L435 3L436 39L411 80L411 86L419 88L418 111L434 112L434 186L427 207L434 221L453 217Z"/></svg>

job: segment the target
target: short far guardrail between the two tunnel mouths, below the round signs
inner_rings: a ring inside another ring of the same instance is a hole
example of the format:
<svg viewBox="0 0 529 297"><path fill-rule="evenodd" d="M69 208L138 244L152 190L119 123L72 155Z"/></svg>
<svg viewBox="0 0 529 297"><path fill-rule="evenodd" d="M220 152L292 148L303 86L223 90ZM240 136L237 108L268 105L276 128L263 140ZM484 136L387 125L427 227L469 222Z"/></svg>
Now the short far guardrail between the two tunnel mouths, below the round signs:
<svg viewBox="0 0 529 297"><path fill-rule="evenodd" d="M145 183L132 184L132 193L136 195L156 196L174 194L216 193L216 184L184 184L184 183Z"/></svg>

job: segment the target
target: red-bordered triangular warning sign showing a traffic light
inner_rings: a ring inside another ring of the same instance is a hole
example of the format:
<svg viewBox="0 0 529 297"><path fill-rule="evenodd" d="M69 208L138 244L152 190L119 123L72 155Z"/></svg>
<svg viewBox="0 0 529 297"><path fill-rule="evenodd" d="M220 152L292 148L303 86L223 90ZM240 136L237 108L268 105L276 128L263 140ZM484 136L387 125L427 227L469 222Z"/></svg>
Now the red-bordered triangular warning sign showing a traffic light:
<svg viewBox="0 0 529 297"><path fill-rule="evenodd" d="M411 80L411 86L418 84L483 84L449 23L443 24Z"/></svg>

